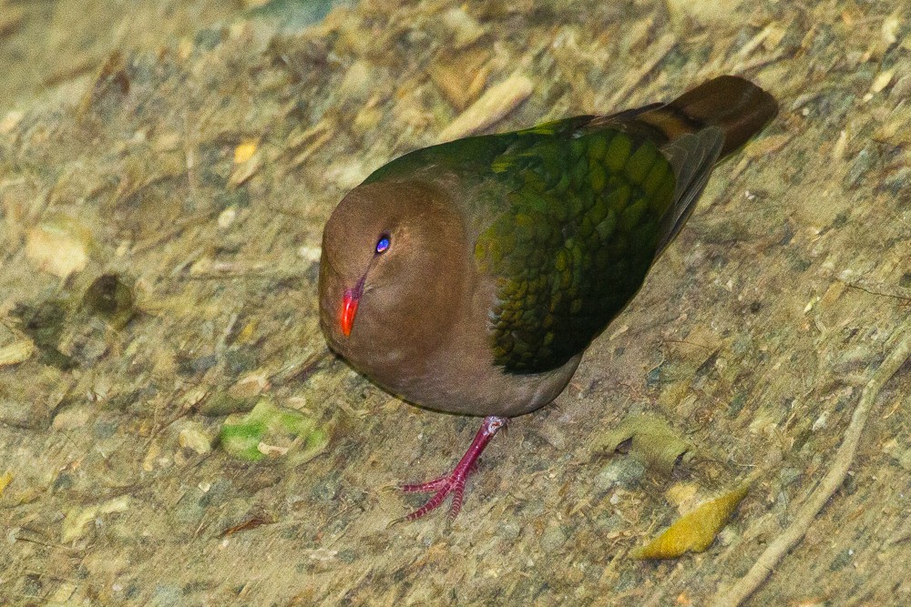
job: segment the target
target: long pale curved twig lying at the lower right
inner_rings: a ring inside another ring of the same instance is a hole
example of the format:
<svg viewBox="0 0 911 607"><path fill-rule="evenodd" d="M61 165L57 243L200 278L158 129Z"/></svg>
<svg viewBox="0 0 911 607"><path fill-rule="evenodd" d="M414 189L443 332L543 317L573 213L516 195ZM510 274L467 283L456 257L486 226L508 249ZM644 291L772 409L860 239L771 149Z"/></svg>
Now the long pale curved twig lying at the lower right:
<svg viewBox="0 0 911 607"><path fill-rule="evenodd" d="M866 419L869 417L879 390L883 388L886 381L896 374L898 369L905 364L908 356L911 355L911 334L909 334L908 329L911 329L911 324L899 327L895 337L889 340L890 343L896 343L895 349L883 361L879 369L876 369L873 378L867 382L864 391L861 393L860 400L857 402L854 414L851 416L851 423L844 432L844 440L835 454L832 468L826 473L823 481L820 482L819 486L810 495L810 498L804 503L804 506L797 512L791 526L769 544L759 559L753 563L750 571L739 582L736 582L727 592L718 592L711 602L712 605L715 607L737 607L742 604L763 584L784 555L804 539L804 534L810 528L816 515L823 510L825 503L841 487L848 468L854 461L857 443L864 432Z"/></svg>

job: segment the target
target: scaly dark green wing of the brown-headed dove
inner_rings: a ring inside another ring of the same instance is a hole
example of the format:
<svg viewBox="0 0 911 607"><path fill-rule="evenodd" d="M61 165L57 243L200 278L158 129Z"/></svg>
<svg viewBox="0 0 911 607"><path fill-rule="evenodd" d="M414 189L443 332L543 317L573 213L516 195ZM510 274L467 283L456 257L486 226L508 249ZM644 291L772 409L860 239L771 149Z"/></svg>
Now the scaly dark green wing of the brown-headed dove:
<svg viewBox="0 0 911 607"><path fill-rule="evenodd" d="M490 339L510 372L556 369L585 349L640 288L667 231L675 178L657 144L622 126L586 130L589 120L507 134L489 164L507 208L475 258L496 276Z"/></svg>

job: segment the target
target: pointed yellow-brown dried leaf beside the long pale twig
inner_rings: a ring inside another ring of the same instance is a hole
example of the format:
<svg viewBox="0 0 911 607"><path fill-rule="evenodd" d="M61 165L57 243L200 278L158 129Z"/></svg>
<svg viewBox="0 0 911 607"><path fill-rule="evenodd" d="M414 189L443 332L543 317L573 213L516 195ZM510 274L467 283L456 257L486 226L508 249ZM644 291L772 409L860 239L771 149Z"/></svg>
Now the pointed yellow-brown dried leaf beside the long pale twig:
<svg viewBox="0 0 911 607"><path fill-rule="evenodd" d="M630 558L640 561L676 559L686 551L701 552L711 546L715 536L750 491L750 482L728 491L722 497L698 506L675 521L666 531L645 546L630 551Z"/></svg>

